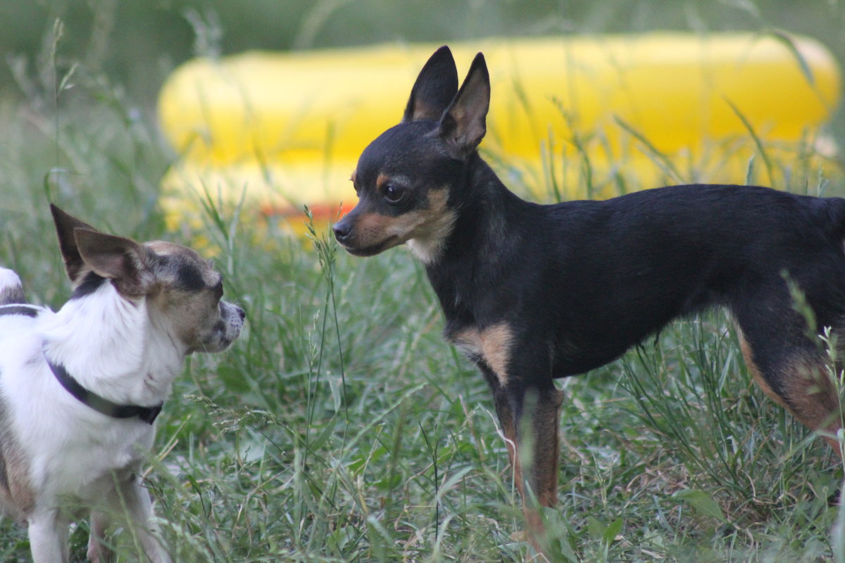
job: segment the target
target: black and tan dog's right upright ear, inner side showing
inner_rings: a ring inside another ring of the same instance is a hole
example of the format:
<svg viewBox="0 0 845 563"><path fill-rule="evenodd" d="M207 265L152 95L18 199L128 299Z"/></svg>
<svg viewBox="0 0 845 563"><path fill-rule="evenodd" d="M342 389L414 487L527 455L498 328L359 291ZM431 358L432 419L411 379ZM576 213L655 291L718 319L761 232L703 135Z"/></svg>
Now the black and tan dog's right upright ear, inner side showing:
<svg viewBox="0 0 845 563"><path fill-rule="evenodd" d="M489 109L490 74L484 56L478 53L455 100L440 118L440 138L455 156L466 159L481 143Z"/></svg>

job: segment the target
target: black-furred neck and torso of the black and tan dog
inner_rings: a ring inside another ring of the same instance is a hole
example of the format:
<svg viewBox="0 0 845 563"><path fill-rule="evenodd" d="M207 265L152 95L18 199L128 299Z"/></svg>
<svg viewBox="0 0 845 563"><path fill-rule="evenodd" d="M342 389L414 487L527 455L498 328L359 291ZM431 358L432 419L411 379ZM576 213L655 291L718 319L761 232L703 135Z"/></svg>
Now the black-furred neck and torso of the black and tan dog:
<svg viewBox="0 0 845 563"><path fill-rule="evenodd" d="M604 365L673 318L711 305L728 306L747 335L766 332L766 348L800 341L805 328L784 274L820 326L842 322L845 200L693 185L542 206L477 166L488 181L471 182L428 277L447 334L504 320L529 325L516 349L566 350L551 371L527 370L532 380Z"/></svg>

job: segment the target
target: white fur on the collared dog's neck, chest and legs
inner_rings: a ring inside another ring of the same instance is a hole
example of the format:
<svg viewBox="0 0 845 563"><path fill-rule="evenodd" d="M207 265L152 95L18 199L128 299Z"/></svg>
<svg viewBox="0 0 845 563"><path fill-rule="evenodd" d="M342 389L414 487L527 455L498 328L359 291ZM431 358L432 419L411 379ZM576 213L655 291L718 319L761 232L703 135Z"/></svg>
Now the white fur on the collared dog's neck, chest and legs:
<svg viewBox="0 0 845 563"><path fill-rule="evenodd" d="M0 392L36 494L35 509L24 515L36 563L67 560L61 541L67 523L55 510L63 497L85 505L111 499L112 508L126 507L136 522L151 516L149 498L132 474L152 445L153 426L117 420L79 402L52 375L45 354L101 397L149 406L170 394L184 352L152 327L144 300L128 301L110 283L57 312L0 316ZM116 480L123 484L119 491ZM103 528L96 513L92 528ZM169 561L152 535L140 536L150 560ZM92 560L99 560L101 549L92 539Z"/></svg>

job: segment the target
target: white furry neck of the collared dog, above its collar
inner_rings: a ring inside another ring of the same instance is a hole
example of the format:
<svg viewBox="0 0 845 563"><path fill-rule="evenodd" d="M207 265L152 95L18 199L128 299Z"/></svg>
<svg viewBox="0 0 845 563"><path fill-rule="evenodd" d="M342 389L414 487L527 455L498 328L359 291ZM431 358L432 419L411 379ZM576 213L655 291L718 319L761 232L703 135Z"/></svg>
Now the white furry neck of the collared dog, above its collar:
<svg viewBox="0 0 845 563"><path fill-rule="evenodd" d="M89 391L140 406L161 403L170 394L185 350L154 326L146 300L128 300L104 280L43 319L48 359Z"/></svg>

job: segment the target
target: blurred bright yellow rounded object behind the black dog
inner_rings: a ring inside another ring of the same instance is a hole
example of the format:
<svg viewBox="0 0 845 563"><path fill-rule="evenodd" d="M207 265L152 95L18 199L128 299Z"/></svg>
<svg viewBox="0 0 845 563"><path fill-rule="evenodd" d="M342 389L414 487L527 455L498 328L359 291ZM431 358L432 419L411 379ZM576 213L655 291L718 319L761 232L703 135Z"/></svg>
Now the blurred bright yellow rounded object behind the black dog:
<svg viewBox="0 0 845 563"><path fill-rule="evenodd" d="M357 156L399 122L437 46L248 52L178 68L159 99L162 131L180 155L163 180L172 226L196 207L197 193L224 204L243 198L263 214L308 204L332 215L353 204ZM505 183L564 198L659 181L742 183L755 153L756 170L768 174L760 180L777 183L767 151L799 165L839 97L837 62L805 37L656 33L450 46L461 78L477 51L487 58L493 96L482 150L501 158Z"/></svg>

